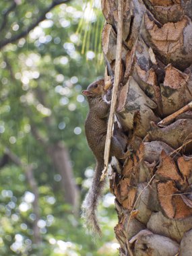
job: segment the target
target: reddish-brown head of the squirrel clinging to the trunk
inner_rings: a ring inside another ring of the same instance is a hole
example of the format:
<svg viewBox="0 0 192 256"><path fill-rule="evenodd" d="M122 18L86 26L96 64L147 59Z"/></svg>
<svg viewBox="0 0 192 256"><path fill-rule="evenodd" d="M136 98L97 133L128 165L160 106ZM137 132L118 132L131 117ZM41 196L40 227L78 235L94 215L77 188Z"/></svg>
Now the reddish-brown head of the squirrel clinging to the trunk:
<svg viewBox="0 0 192 256"><path fill-rule="evenodd" d="M97 80L96 82L90 84L87 90L82 91L87 97L100 97L106 94L106 90L104 88L104 79Z"/></svg>

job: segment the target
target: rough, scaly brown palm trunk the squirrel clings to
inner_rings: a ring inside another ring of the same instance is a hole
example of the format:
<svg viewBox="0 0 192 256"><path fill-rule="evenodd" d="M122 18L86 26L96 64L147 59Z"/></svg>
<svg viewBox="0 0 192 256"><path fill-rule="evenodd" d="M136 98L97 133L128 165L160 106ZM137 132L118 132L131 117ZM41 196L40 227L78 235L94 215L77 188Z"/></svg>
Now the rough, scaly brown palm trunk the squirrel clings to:
<svg viewBox="0 0 192 256"><path fill-rule="evenodd" d="M192 1L123 1L121 84L116 115L133 152L113 170L120 255L191 255ZM102 49L112 67L118 1L102 0ZM105 79L108 79L105 75ZM173 115L166 127L158 125ZM189 108L188 108L189 109Z"/></svg>

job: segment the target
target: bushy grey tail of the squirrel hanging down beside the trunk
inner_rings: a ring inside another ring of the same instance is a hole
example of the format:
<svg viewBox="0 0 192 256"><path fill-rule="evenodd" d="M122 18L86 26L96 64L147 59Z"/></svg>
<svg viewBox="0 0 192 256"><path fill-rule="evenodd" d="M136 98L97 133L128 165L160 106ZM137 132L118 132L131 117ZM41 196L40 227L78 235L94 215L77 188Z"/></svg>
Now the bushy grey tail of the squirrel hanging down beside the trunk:
<svg viewBox="0 0 192 256"><path fill-rule="evenodd" d="M96 164L94 179L84 202L82 203L82 218L88 232L101 236L100 226L96 216L98 201L102 196L104 181L100 181L104 164Z"/></svg>

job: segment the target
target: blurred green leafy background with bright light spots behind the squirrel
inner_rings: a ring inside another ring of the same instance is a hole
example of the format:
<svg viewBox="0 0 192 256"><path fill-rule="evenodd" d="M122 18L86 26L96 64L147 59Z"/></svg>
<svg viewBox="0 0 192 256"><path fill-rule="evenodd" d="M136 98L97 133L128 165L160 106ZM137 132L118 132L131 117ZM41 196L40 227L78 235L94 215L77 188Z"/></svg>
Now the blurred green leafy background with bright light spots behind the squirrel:
<svg viewBox="0 0 192 256"><path fill-rule="evenodd" d="M117 255L110 193L102 241L79 218L94 168L81 92L104 73L99 3L0 3L1 256Z"/></svg>

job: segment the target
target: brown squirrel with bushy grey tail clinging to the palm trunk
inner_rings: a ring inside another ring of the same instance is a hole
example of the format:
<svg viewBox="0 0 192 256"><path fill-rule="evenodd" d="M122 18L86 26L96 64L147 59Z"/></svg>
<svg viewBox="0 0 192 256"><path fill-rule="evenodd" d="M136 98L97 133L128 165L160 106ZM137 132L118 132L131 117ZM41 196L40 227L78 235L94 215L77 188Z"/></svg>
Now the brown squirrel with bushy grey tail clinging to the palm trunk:
<svg viewBox="0 0 192 256"><path fill-rule="evenodd" d="M92 186L82 204L82 218L84 218L85 226L89 231L100 235L101 231L96 218L96 208L104 187L104 181L100 181L100 177L104 168L104 147L110 110L110 104L104 100L104 95L106 94L104 79L90 84L82 94L87 97L90 108L85 123L86 138L96 158ZM118 136L113 135L110 143L110 158L115 156L118 159L125 159L128 156L127 153L123 152Z"/></svg>

